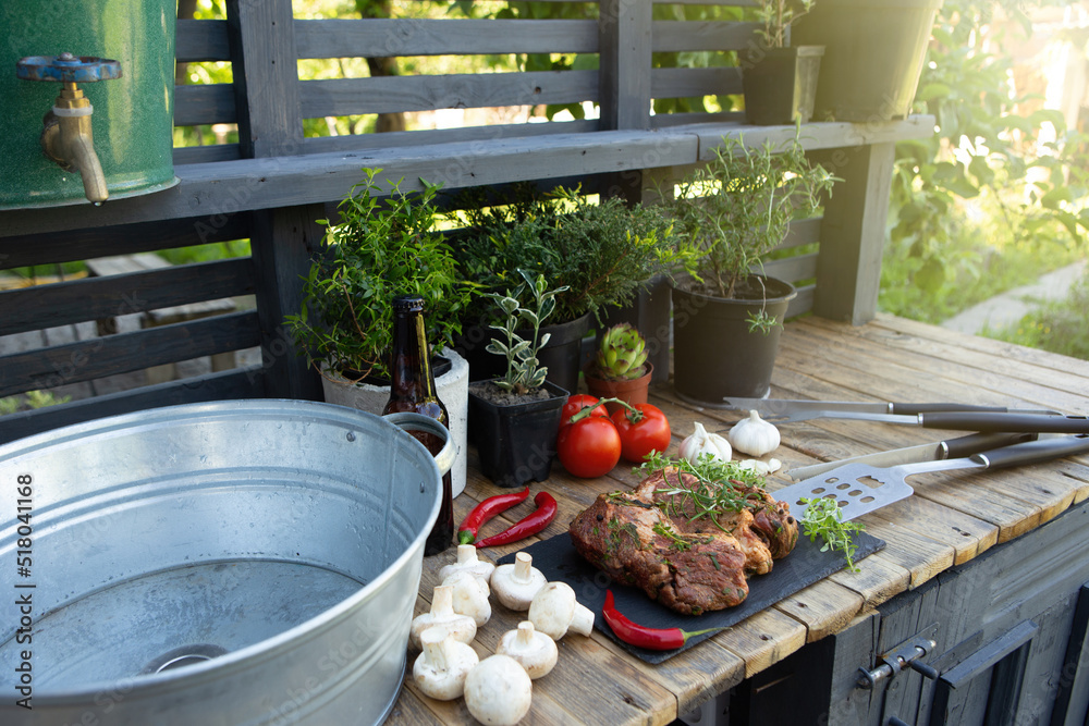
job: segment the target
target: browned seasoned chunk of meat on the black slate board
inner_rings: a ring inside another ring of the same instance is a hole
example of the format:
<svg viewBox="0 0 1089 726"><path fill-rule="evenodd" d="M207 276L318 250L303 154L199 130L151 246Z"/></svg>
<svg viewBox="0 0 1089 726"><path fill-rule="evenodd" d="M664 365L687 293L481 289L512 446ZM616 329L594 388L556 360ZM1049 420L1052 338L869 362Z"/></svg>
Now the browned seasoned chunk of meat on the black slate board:
<svg viewBox="0 0 1089 726"><path fill-rule="evenodd" d="M571 522L575 549L610 577L678 613L732 607L750 575L798 541L785 502L762 488L663 469L631 492L601 494Z"/></svg>

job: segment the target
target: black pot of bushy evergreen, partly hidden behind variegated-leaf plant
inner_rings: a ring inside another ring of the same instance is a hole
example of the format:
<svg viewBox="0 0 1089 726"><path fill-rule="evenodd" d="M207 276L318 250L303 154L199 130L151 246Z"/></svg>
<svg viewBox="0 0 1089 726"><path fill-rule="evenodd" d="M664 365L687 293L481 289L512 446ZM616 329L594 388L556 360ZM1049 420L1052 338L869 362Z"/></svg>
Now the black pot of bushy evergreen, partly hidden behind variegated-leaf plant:
<svg viewBox="0 0 1089 726"><path fill-rule="evenodd" d="M578 371L583 360L583 337L590 329L590 313L556 325L544 325L541 333L549 333L549 341L537 356L548 367L548 380L564 391L578 385ZM469 361L470 381L489 381L502 376L506 359L485 350L497 331L480 324L463 324L462 335L454 342L454 349ZM529 331L518 331L527 336Z"/></svg>

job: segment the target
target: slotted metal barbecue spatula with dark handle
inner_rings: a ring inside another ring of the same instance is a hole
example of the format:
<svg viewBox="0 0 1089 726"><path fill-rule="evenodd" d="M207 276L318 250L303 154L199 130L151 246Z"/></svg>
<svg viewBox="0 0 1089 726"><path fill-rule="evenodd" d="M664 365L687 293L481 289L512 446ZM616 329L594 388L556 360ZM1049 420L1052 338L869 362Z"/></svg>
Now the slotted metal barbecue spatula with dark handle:
<svg viewBox="0 0 1089 726"><path fill-rule="evenodd" d="M989 452L974 454L965 458L919 462L890 467L877 467L865 463L845 464L831 471L771 492L771 495L790 504L791 514L798 519L805 516L807 508L800 500L835 499L840 504L843 519L847 520L910 496L915 490L905 479L916 473L953 469L999 469L1050 462L1085 452L1089 452L1089 435L1078 434L1028 441L1013 446L992 448Z"/></svg>

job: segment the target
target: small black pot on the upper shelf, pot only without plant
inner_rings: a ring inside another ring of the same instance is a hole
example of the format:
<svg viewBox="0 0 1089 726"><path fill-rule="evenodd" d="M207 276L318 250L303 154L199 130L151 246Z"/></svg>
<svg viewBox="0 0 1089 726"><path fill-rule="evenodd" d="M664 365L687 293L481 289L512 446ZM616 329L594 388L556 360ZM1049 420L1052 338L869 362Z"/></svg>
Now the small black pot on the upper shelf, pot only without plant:
<svg viewBox="0 0 1089 726"><path fill-rule="evenodd" d="M770 126L812 118L823 46L754 48L742 71L745 116Z"/></svg>

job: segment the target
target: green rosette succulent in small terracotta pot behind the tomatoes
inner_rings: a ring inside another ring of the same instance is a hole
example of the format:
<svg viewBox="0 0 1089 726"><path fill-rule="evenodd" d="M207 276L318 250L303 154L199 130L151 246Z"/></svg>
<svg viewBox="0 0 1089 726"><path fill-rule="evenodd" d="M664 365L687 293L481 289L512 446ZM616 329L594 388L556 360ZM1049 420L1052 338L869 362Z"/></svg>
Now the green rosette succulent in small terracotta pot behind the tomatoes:
<svg viewBox="0 0 1089 726"><path fill-rule="evenodd" d="M583 369L586 387L598 398L620 398L633 406L647 403L653 366L647 360L647 342L626 322L601 334L598 352ZM612 415L620 404L608 403Z"/></svg>

